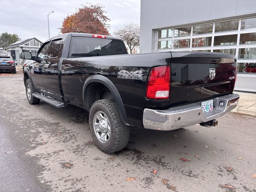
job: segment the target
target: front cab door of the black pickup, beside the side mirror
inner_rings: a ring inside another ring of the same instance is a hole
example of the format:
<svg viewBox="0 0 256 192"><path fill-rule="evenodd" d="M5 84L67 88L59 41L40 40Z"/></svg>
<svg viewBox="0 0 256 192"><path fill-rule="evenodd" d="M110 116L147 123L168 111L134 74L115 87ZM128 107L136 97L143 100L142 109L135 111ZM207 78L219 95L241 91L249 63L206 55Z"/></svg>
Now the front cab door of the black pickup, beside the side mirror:
<svg viewBox="0 0 256 192"><path fill-rule="evenodd" d="M44 80L43 80L43 70L44 64L46 63L47 51L50 42L45 42L42 47L38 50L36 55L36 60L29 65L30 74L32 76L32 81L34 88L36 90L45 91Z"/></svg>

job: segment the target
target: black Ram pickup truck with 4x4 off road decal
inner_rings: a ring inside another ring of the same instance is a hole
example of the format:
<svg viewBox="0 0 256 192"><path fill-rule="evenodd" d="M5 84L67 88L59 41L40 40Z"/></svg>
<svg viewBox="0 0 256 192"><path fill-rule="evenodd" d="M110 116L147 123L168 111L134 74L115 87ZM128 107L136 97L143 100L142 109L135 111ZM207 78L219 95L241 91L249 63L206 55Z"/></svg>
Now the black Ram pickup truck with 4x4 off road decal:
<svg viewBox="0 0 256 192"><path fill-rule="evenodd" d="M47 40L24 68L30 104L40 100L90 112L92 137L105 153L126 146L130 126L174 130L234 109L236 58L212 52L127 53L122 39L67 33Z"/></svg>

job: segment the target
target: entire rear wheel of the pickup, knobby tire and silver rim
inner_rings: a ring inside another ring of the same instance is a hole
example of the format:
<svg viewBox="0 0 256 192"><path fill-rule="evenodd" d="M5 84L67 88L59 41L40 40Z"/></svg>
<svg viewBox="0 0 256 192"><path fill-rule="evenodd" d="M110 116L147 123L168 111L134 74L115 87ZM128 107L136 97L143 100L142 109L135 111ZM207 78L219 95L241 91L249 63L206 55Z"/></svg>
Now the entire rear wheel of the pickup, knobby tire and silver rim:
<svg viewBox="0 0 256 192"><path fill-rule="evenodd" d="M117 152L128 144L130 128L122 121L114 99L94 102L89 124L94 142L104 153Z"/></svg>

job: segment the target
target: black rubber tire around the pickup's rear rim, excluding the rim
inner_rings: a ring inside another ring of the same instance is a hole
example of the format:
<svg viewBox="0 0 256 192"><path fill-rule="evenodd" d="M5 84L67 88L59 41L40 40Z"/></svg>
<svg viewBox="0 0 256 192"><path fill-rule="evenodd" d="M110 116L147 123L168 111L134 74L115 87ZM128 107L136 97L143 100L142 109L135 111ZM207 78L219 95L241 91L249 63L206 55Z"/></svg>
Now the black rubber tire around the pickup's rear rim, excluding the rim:
<svg viewBox="0 0 256 192"><path fill-rule="evenodd" d="M104 112L110 122L110 138L106 143L100 142L94 132L93 119L94 114L98 111ZM124 124L114 99L102 99L94 102L90 109L89 124L94 142L104 153L117 152L128 144L130 128Z"/></svg>

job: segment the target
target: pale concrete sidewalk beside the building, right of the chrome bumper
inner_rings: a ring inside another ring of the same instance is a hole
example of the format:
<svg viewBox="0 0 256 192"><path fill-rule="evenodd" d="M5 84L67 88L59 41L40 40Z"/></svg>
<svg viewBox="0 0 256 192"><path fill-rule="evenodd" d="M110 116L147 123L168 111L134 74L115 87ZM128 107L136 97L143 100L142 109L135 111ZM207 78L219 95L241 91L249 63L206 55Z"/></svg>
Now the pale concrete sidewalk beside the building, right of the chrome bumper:
<svg viewBox="0 0 256 192"><path fill-rule="evenodd" d="M231 112L238 112L256 116L256 94L245 92L234 92L240 95L238 106Z"/></svg>

